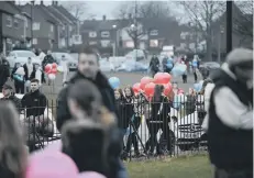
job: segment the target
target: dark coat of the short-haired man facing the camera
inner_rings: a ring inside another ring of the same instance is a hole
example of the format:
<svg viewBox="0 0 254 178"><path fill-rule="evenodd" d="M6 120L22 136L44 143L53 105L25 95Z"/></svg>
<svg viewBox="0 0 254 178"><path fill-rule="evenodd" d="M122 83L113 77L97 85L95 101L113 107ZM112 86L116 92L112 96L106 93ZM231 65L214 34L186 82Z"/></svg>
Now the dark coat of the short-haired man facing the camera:
<svg viewBox="0 0 254 178"><path fill-rule="evenodd" d="M56 126L58 131L60 131L63 124L71 119L68 105L67 105L67 92L69 89L69 85L75 84L77 80L90 80L86 77L84 77L78 71L76 75L70 79L68 82L68 86L66 86L58 94L58 105L56 110ZM92 81L100 90L100 93L102 96L103 104L104 107L115 113L118 115L117 109L115 109L115 99L114 99L114 91L110 87L107 77L104 77L100 71L98 73L96 80ZM121 160L120 160L120 154L122 149L122 141L121 141L121 132L119 129L111 130L110 133L110 143L109 143L109 149L108 149L108 156L109 156L109 165L110 165L110 178L121 178L115 175L118 173L125 171Z"/></svg>

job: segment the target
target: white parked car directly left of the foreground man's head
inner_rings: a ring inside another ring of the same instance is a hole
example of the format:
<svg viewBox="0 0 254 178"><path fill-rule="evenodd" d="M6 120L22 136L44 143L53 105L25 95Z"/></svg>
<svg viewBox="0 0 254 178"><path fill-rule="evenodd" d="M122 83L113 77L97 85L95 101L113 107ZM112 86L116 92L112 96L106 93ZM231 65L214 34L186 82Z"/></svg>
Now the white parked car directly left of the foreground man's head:
<svg viewBox="0 0 254 178"><path fill-rule="evenodd" d="M60 63L62 56L65 56L65 58L67 58L68 63L69 63L69 70L76 70L77 66L78 66L78 58L74 58L70 54L68 53L58 53L58 52L54 52L52 53L52 56L54 57L54 59L56 60L57 64Z"/></svg>

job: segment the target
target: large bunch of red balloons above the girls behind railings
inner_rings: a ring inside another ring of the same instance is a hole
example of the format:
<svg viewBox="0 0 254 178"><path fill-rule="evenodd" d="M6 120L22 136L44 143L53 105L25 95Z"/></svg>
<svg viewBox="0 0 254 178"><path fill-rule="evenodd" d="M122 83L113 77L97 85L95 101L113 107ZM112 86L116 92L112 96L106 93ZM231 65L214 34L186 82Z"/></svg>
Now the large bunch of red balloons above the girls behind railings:
<svg viewBox="0 0 254 178"><path fill-rule="evenodd" d="M154 88L156 85L164 86L164 94L168 96L172 91L172 76L167 73L157 73L154 78L143 77L141 82L133 85L132 89L134 93L144 92L145 96L151 99L154 96Z"/></svg>

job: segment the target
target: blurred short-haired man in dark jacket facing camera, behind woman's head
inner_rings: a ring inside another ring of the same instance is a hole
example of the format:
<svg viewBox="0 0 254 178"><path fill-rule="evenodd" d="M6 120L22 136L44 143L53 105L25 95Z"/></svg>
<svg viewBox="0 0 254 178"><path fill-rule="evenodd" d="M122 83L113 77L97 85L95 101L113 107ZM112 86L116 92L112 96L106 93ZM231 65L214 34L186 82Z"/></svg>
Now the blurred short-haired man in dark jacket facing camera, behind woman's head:
<svg viewBox="0 0 254 178"><path fill-rule="evenodd" d="M59 131L62 130L63 124L71 118L68 105L67 105L67 92L69 90L69 86L80 79L92 81L96 85L96 87L98 87L100 90L104 107L109 111L117 113L114 91L110 87L107 77L104 77L99 70L99 57L97 53L93 49L87 47L79 54L78 71L69 80L68 86L66 86L58 96L58 107L56 110L56 126ZM114 134L112 136L117 136L117 135ZM111 148L113 148L115 145L120 145L120 146L122 145L121 142L114 143L112 142L112 140L110 141L110 145L112 145L110 146ZM109 155L113 154L112 157L118 163L118 166L115 167L115 169L118 169L119 174L122 174L125 170L124 170L122 163L120 162L118 157L120 156L120 153L117 153L118 156L115 157L114 155L115 153L112 153L113 151L111 148L109 151ZM123 174L119 176L118 178L125 178L125 177L126 175Z"/></svg>

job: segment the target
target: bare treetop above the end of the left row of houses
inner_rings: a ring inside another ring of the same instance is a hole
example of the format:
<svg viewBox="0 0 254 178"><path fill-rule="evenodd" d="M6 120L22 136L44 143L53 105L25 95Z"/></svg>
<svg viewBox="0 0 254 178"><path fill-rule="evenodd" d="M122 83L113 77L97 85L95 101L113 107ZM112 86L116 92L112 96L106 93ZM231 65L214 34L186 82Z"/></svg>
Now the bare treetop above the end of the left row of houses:
<svg viewBox="0 0 254 178"><path fill-rule="evenodd" d="M85 19L87 3L86 1L66 1L63 5L69 11L77 20L81 21Z"/></svg>

